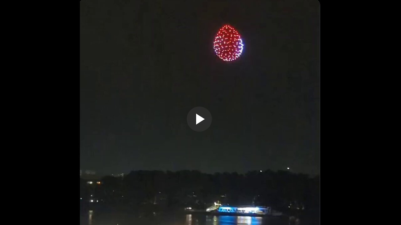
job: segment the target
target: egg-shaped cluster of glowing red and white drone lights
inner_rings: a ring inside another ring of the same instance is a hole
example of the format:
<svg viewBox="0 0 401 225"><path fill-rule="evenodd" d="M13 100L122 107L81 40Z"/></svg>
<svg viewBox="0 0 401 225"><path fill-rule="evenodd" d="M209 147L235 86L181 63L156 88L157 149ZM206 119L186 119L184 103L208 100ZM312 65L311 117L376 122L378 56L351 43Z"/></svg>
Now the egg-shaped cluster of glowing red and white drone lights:
<svg viewBox="0 0 401 225"><path fill-rule="evenodd" d="M219 58L224 61L237 59L243 50L241 36L230 25L224 25L215 36L213 48Z"/></svg>

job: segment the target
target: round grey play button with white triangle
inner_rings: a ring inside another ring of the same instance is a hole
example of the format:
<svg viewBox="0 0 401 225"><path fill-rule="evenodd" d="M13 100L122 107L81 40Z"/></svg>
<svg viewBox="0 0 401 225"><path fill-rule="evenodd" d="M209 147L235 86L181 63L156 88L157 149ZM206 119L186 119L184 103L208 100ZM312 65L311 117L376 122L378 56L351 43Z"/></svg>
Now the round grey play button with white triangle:
<svg viewBox="0 0 401 225"><path fill-rule="evenodd" d="M194 131L206 131L212 124L212 115L206 108L198 106L188 112L186 122Z"/></svg>

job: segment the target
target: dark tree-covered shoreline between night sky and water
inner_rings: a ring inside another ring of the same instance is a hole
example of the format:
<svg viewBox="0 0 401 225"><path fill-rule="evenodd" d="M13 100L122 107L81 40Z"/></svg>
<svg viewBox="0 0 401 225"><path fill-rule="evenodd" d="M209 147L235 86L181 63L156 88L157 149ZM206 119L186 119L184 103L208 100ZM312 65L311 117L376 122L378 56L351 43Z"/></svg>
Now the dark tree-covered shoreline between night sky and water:
<svg viewBox="0 0 401 225"><path fill-rule="evenodd" d="M318 209L320 175L289 171L249 171L245 174L200 171L132 171L88 184L81 178L82 201L107 204L160 205L169 209L206 209L219 201L230 205L264 205L273 209Z"/></svg>

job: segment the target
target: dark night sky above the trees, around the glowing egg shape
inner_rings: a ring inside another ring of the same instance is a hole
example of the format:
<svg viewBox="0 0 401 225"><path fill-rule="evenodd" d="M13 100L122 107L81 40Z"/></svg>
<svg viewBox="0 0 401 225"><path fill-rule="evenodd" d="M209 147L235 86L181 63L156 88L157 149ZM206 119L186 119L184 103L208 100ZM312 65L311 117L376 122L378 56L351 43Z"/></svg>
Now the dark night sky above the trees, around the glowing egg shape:
<svg viewBox="0 0 401 225"><path fill-rule="evenodd" d="M317 0L80 2L80 167L320 174ZM224 24L239 59L213 51ZM192 131L188 111L213 122Z"/></svg>

